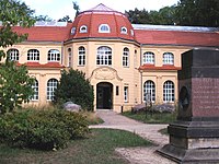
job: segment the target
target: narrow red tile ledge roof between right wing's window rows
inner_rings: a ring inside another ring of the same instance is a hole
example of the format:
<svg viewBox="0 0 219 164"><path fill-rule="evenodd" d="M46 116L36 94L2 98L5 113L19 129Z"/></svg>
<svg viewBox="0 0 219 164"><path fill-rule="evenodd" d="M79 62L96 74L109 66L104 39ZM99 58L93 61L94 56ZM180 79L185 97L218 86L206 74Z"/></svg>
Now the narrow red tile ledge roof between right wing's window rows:
<svg viewBox="0 0 219 164"><path fill-rule="evenodd" d="M143 65L139 67L139 70L181 70L181 67L173 65L163 65L162 67L155 67L154 65Z"/></svg>

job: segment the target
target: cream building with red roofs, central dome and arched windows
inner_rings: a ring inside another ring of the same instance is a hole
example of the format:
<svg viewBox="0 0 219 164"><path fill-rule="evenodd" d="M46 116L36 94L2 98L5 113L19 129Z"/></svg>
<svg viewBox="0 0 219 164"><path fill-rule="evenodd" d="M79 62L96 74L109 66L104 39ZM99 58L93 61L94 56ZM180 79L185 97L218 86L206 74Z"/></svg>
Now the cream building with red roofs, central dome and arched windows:
<svg viewBox="0 0 219 164"><path fill-rule="evenodd" d="M181 54L218 48L217 28L130 24L104 4L81 12L73 23L37 22L14 27L26 42L8 47L11 59L36 77L30 105L47 105L62 69L85 72L94 89L94 109L128 110L149 96L153 103L177 102Z"/></svg>

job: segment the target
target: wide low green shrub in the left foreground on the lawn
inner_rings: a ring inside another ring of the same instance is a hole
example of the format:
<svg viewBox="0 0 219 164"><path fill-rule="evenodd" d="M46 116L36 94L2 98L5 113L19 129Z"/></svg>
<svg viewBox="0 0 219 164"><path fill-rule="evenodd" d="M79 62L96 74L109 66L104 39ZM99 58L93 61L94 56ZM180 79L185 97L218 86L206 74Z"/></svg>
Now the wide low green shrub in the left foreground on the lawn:
<svg viewBox="0 0 219 164"><path fill-rule="evenodd" d="M25 110L0 117L0 139L13 147L61 149L88 132L85 118L66 110Z"/></svg>

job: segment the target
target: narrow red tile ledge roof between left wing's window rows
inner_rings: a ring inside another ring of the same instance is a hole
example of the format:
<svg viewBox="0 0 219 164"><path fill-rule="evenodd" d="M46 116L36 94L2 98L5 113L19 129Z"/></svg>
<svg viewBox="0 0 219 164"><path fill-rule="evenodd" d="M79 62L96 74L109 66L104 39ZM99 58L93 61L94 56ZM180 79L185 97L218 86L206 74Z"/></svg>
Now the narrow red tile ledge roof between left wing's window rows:
<svg viewBox="0 0 219 164"><path fill-rule="evenodd" d="M65 68L64 66L61 66L59 62L47 62L45 65L42 65L39 62L25 62L25 63L16 63L16 66L26 66L30 68Z"/></svg>

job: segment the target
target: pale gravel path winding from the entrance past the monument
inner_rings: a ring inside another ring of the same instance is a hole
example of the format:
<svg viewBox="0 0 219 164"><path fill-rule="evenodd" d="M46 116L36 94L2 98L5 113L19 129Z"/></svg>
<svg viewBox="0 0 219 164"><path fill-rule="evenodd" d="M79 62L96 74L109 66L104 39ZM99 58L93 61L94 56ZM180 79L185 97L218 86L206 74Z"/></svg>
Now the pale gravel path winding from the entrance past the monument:
<svg viewBox="0 0 219 164"><path fill-rule="evenodd" d="M175 164L154 151L169 142L168 136L161 134L158 130L166 128L168 125L142 124L112 110L97 110L96 115L104 120L104 124L90 126L90 128L111 128L135 132L140 137L152 141L158 147L149 148L117 148L115 151L126 157L131 164Z"/></svg>

